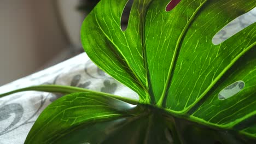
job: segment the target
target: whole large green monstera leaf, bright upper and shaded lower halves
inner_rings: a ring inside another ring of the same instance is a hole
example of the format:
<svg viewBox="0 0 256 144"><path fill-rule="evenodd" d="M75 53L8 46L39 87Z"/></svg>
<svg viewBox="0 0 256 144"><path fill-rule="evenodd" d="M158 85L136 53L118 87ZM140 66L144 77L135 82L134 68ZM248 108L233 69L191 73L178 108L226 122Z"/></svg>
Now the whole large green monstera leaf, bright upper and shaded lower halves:
<svg viewBox="0 0 256 144"><path fill-rule="evenodd" d="M255 1L134 0L123 31L126 3L99 2L82 43L139 100L61 89L85 92L54 101L25 143L256 143L256 23L212 43Z"/></svg>

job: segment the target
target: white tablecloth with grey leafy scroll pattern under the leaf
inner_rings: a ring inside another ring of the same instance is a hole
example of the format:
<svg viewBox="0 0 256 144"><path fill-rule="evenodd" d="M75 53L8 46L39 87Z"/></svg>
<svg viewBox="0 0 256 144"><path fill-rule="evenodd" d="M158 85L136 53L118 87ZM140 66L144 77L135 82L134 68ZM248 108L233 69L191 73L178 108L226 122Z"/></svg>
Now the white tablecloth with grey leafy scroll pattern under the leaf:
<svg viewBox="0 0 256 144"><path fill-rule="evenodd" d="M219 43L256 21L256 9L239 17L213 38ZM54 67L39 71L0 87L0 93L42 84L69 85L138 99L131 89L121 85L93 64L83 53ZM39 114L61 94L20 92L0 98L0 144L24 143Z"/></svg>

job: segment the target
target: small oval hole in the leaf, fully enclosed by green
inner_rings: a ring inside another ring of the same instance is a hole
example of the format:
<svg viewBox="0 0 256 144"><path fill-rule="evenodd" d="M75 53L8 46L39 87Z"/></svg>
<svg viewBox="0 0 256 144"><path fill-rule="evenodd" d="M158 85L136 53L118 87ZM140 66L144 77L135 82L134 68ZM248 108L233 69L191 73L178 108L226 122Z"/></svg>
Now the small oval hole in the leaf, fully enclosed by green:
<svg viewBox="0 0 256 144"><path fill-rule="evenodd" d="M238 92L240 92L245 87L245 82L236 81L229 86L226 86L222 91L219 92L218 98L219 100L228 99Z"/></svg>

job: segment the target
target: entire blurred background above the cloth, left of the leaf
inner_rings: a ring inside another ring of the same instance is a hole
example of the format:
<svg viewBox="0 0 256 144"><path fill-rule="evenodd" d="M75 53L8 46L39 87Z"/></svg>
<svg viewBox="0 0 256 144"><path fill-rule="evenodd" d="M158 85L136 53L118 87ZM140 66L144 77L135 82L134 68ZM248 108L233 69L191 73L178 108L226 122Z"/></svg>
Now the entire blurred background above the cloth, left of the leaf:
<svg viewBox="0 0 256 144"><path fill-rule="evenodd" d="M97 0L1 0L0 86L83 52L80 26Z"/></svg>

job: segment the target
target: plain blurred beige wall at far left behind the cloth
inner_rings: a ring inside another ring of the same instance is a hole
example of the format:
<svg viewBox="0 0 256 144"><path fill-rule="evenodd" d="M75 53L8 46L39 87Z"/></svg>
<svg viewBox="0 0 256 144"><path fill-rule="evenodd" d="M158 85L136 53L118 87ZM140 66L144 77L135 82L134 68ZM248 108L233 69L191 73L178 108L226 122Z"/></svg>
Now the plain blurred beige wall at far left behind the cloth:
<svg viewBox="0 0 256 144"><path fill-rule="evenodd" d="M0 86L34 73L66 45L53 1L0 1Z"/></svg>

